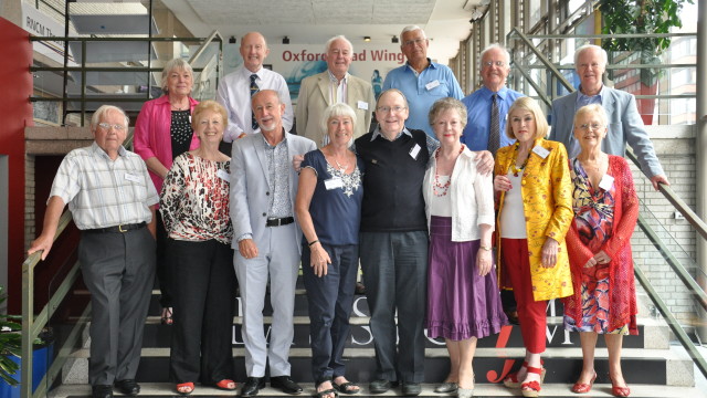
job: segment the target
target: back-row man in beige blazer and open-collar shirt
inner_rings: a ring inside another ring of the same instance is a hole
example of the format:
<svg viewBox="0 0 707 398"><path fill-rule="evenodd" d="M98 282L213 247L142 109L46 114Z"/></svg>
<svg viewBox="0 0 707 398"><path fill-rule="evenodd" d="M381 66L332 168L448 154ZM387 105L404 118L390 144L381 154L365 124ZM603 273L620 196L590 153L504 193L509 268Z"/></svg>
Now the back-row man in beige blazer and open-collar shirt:
<svg viewBox="0 0 707 398"><path fill-rule="evenodd" d="M368 133L376 104L371 84L349 74L351 42L337 35L327 41L325 51L327 71L302 81L295 112L297 134L313 139L317 147L328 139L321 130L321 115L327 106L341 102L354 108L358 121L354 138L358 138Z"/></svg>

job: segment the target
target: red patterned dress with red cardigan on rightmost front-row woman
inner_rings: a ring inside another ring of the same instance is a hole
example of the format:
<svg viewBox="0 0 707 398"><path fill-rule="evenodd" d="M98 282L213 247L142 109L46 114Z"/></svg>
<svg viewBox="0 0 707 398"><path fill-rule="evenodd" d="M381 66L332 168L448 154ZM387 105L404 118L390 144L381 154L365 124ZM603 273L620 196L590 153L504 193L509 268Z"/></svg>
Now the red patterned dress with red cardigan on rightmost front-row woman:
<svg viewBox="0 0 707 398"><path fill-rule="evenodd" d="M574 294L563 300L564 328L637 334L631 234L639 202L631 169L623 158L610 155L602 187L592 187L578 159L570 161L570 169L574 220L567 245ZM602 250L611 258L610 263L585 268L587 261Z"/></svg>

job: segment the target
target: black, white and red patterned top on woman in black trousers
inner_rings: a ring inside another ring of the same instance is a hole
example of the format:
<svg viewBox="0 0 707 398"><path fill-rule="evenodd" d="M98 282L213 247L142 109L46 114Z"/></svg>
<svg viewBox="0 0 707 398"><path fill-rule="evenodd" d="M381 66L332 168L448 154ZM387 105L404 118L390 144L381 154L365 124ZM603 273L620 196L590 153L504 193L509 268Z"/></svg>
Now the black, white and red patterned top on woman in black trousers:
<svg viewBox="0 0 707 398"><path fill-rule="evenodd" d="M168 237L176 240L231 243L230 161L179 155L162 185L160 211Z"/></svg>

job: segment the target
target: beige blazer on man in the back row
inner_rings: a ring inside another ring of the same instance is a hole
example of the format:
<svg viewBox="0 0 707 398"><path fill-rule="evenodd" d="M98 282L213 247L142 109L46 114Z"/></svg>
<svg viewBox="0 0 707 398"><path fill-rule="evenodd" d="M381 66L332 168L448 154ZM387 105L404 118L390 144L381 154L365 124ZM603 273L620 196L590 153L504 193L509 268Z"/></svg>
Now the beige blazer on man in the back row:
<svg viewBox="0 0 707 398"><path fill-rule="evenodd" d="M349 74L348 77L348 105L356 112L356 128L354 138L368 133L371 124L371 114L376 107L373 87L362 78ZM359 103L360 102L360 103ZM306 77L299 86L297 108L295 111L295 125L297 135L305 136L321 147L325 132L321 130L321 117L324 109L331 105L329 101L329 72L325 71L314 76Z"/></svg>

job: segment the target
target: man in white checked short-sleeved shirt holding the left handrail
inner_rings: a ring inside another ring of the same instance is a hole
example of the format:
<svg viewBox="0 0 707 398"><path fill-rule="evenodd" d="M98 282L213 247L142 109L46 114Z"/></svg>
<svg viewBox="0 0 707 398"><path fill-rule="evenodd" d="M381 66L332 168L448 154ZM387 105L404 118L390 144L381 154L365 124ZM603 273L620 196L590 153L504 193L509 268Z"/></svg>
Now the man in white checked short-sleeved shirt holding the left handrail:
<svg viewBox="0 0 707 398"><path fill-rule="evenodd" d="M94 143L62 161L50 192L42 233L29 254L49 254L68 205L82 231L78 262L91 292L93 398L113 397L113 386L136 396L143 329L155 277L155 185L143 159L123 147L128 117L115 106L91 119Z"/></svg>

